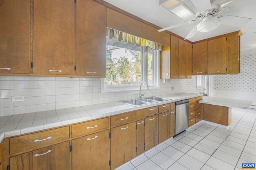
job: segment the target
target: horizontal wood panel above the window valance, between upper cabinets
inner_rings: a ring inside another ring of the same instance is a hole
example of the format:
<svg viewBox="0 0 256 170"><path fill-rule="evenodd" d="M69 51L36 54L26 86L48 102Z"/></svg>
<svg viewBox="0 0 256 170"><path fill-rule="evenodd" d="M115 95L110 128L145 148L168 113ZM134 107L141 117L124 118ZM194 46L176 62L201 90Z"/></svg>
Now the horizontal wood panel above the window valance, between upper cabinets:
<svg viewBox="0 0 256 170"><path fill-rule="evenodd" d="M170 34L107 8L107 27L170 47Z"/></svg>

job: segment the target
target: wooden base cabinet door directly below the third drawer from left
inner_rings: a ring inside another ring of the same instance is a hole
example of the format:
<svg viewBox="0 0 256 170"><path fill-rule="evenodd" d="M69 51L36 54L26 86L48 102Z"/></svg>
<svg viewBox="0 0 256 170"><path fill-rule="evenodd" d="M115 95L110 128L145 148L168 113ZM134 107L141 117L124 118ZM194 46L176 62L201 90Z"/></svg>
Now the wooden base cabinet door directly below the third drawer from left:
<svg viewBox="0 0 256 170"><path fill-rule="evenodd" d="M111 132L111 169L136 157L136 122L112 128Z"/></svg>

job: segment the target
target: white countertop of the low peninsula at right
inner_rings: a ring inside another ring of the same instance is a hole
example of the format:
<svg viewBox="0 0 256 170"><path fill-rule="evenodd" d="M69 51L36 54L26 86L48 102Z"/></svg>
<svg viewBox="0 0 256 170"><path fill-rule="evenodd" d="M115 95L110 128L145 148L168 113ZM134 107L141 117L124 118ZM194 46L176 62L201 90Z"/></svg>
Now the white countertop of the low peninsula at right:
<svg viewBox="0 0 256 170"><path fill-rule="evenodd" d="M199 103L203 103L203 104L212 104L212 105L225 106L225 107L236 107L241 109L248 109L251 106L252 102L253 102L252 100L217 98L217 97L210 97L210 96L203 96L203 100L199 101Z"/></svg>

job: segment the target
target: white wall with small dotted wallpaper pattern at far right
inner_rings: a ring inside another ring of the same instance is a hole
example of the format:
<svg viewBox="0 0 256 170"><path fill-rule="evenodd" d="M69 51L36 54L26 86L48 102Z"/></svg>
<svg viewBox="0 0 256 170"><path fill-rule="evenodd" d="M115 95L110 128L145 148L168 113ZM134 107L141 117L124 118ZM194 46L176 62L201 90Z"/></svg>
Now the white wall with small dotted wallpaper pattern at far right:
<svg viewBox="0 0 256 170"><path fill-rule="evenodd" d="M256 105L256 54L241 56L240 74L212 77L213 96L253 100Z"/></svg>

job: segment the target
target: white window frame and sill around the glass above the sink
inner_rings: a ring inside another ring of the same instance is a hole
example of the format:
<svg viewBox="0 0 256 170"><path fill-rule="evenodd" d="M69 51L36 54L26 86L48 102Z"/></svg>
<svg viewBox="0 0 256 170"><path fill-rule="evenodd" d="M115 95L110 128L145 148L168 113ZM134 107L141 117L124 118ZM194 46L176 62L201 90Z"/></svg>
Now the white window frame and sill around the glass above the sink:
<svg viewBox="0 0 256 170"><path fill-rule="evenodd" d="M148 82L148 51L146 47L142 47L142 81ZM160 51L153 51L153 85L149 85L150 89L160 89ZM128 85L128 86L104 86L104 78L101 78L100 93L105 92L123 92L139 90L140 85ZM146 89L146 86L142 86L142 89Z"/></svg>

